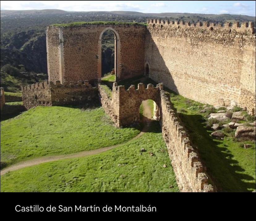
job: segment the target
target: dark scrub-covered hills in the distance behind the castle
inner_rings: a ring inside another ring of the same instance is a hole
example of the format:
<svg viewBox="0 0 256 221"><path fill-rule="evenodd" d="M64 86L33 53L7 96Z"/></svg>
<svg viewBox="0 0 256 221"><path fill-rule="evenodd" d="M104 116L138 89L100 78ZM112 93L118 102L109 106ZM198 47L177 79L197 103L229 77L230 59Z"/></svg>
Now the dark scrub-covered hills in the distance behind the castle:
<svg viewBox="0 0 256 221"><path fill-rule="evenodd" d="M45 10L25 10L25 11L10 11L1 10L1 61L0 67L4 70L9 70L11 77L16 78L21 83L31 83L38 79L44 79L44 75L36 75L38 73L47 73L46 65L46 42L45 30L50 24L56 23L70 23L77 21L120 21L120 22L140 22L145 23L147 18L169 19L169 20L183 20L191 23L198 21L209 21L211 23L224 22L249 22L254 21L255 17L247 15L207 15L207 14L190 14L190 13L141 13L136 11L88 11L88 12L72 12L56 9ZM103 44L108 46L102 47L103 63L112 64L112 60L108 60L109 54L113 52L113 44L108 41L108 35ZM112 46L110 46L112 45ZM6 66L7 65L7 66ZM11 65L8 66L8 65ZM19 73L27 72L24 77L19 76ZM106 72L112 70L111 65L104 69ZM9 73L8 72L8 73ZM2 82L14 82L8 80L11 78L1 71ZM23 80L25 78L25 80ZM6 85L9 85L7 84ZM2 85L6 89L6 85ZM9 87L14 87L13 85ZM10 89L9 89L10 90ZM15 91L13 91L15 92Z"/></svg>

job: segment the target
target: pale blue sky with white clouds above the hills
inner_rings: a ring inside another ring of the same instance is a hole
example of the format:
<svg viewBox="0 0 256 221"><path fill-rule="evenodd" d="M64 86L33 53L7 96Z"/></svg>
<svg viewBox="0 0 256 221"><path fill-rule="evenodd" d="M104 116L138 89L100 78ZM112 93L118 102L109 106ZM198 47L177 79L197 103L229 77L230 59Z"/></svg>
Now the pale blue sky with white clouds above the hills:
<svg viewBox="0 0 256 221"><path fill-rule="evenodd" d="M180 12L255 16L255 1L1 1L1 10Z"/></svg>

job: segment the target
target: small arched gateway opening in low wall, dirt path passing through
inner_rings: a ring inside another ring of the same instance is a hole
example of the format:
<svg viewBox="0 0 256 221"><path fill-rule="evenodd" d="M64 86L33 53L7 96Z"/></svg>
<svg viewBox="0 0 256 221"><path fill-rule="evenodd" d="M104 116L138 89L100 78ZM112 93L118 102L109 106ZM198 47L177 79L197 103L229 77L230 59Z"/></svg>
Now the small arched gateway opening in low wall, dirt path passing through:
<svg viewBox="0 0 256 221"><path fill-rule="evenodd" d="M155 101L143 100L139 107L140 121L159 120L159 108Z"/></svg>

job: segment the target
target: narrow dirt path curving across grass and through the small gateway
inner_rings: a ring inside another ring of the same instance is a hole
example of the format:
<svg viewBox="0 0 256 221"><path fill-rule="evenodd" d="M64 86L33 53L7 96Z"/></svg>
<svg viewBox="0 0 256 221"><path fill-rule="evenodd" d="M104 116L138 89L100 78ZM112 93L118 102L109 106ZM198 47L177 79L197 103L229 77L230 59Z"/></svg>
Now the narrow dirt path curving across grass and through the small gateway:
<svg viewBox="0 0 256 221"><path fill-rule="evenodd" d="M143 127L142 131L136 137L128 140L127 142L116 144L116 145L110 146L110 147L103 147L103 148L99 148L99 149L91 150L91 151L81 151L81 152L78 152L78 153L67 154L67 155L39 157L39 158L31 159L31 160L22 161L22 162L19 162L17 164L13 164L10 167L2 169L1 170L1 175L5 174L6 172L9 172L9 171L14 171L14 170L18 170L18 169L21 169L21 168L25 168L25 167L29 167L29 166L33 166L33 165L38 165L38 164L42 164L42 163L47 163L47 162L51 162L51 161L56 161L56 160L59 160L59 159L68 159L68 158L75 158L75 157L82 157L82 156L90 156L90 155L99 154L99 153L111 150L115 147L119 147L123 144L126 144L130 141L133 141L133 140L139 138L141 135L143 135L145 132L147 132L147 130L150 126L150 122L151 122L150 106L147 104L147 101L143 101L142 104L143 104L144 127Z"/></svg>

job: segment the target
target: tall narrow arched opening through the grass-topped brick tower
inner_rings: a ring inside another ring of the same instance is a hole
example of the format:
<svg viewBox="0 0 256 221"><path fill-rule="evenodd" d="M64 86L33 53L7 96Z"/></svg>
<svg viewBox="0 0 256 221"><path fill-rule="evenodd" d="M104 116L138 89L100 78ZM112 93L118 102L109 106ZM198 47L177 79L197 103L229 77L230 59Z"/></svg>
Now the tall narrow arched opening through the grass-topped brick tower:
<svg viewBox="0 0 256 221"><path fill-rule="evenodd" d="M117 47L119 47L119 36L113 28L106 28L99 39L99 77L105 81L114 82L117 79Z"/></svg>

